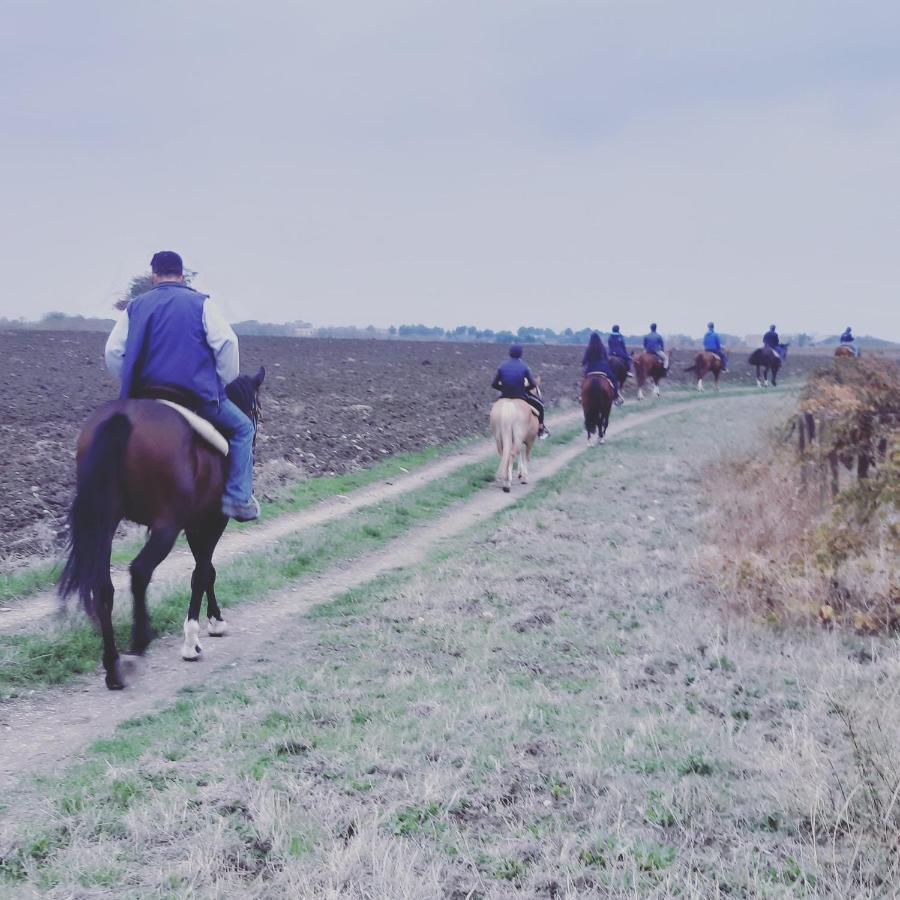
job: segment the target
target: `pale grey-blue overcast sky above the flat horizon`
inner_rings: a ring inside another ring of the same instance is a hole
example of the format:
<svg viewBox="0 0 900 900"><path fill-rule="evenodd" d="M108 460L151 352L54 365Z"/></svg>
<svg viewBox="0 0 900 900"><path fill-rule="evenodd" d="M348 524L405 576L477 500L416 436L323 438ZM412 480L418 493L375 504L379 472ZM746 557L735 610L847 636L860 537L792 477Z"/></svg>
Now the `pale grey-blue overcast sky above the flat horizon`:
<svg viewBox="0 0 900 900"><path fill-rule="evenodd" d="M0 316L900 340L896 0L3 0Z"/></svg>

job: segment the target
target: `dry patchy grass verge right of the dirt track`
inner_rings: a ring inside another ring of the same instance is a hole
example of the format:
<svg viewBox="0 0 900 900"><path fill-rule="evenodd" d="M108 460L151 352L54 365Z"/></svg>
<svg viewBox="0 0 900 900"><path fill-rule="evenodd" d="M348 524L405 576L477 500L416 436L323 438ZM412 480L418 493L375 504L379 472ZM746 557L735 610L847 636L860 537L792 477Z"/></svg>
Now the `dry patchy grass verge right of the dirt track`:
<svg viewBox="0 0 900 900"><path fill-rule="evenodd" d="M862 711L897 706L895 644L735 618L696 564L708 468L790 405L636 417L464 533L436 522L404 571L325 576L52 776L24 754L0 892L892 895L859 748Z"/></svg>

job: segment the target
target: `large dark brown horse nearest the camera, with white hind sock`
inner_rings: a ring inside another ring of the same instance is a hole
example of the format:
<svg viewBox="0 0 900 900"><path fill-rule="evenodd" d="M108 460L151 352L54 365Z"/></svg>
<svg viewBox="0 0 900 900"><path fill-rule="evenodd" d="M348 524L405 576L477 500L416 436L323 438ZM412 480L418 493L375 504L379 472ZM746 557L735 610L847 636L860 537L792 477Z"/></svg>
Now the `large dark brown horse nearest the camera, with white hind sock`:
<svg viewBox="0 0 900 900"><path fill-rule="evenodd" d="M259 424L259 389L266 370L239 375L226 387L229 399ZM148 389L147 396L154 393ZM172 389L162 393L171 396ZM254 444L256 437L254 434ZM125 687L112 626L110 554L123 519L146 525L147 542L132 560L131 650L142 655L156 632L147 613L147 587L156 567L184 531L194 555L191 600L181 655L198 659L200 604L206 594L211 636L226 630L216 601L212 555L228 524L221 511L227 457L213 449L170 406L154 399L113 400L88 418L78 438L78 484L69 514L69 555L59 581L60 597L78 593L103 636L103 668L111 691Z"/></svg>

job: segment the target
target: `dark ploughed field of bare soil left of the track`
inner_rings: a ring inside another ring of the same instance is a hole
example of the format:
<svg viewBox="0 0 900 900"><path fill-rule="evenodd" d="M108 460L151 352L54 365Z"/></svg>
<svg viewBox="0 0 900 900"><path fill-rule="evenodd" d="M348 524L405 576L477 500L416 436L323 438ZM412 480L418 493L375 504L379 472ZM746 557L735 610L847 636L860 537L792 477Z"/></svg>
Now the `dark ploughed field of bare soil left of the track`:
<svg viewBox="0 0 900 900"><path fill-rule="evenodd" d="M105 340L93 332L0 332L0 566L58 552L65 540L78 429L117 393L103 364ZM581 352L526 349L549 404L576 398ZM262 496L275 497L298 479L484 433L496 396L490 382L504 354L505 347L485 344L241 338L244 371L265 365L268 372L257 444ZM688 357L676 353L672 387L691 381L682 371ZM823 359L798 355L785 377ZM738 354L733 369L727 384L750 383Z"/></svg>

